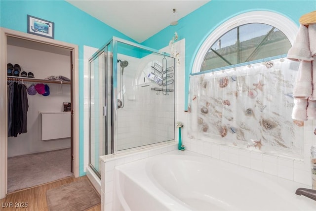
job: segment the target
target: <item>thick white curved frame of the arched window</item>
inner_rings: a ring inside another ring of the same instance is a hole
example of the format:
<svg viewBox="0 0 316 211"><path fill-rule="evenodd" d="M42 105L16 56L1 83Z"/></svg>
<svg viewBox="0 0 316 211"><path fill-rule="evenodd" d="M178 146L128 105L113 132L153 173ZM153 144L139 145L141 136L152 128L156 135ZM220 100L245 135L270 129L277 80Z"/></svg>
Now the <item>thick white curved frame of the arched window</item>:
<svg viewBox="0 0 316 211"><path fill-rule="evenodd" d="M276 27L287 37L291 45L293 45L298 32L298 26L292 20L276 12L251 11L242 13L221 24L205 39L197 51L192 74L200 72L205 55L220 37L237 26L250 23L263 23Z"/></svg>

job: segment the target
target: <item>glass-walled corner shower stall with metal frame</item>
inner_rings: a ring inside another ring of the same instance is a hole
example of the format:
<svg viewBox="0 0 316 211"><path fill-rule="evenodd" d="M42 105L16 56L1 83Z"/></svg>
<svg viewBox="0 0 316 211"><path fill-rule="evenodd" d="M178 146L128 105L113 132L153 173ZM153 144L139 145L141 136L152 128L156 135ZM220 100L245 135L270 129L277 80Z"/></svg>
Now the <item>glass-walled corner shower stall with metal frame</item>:
<svg viewBox="0 0 316 211"><path fill-rule="evenodd" d="M90 160L174 141L175 59L113 37L89 59Z"/></svg>

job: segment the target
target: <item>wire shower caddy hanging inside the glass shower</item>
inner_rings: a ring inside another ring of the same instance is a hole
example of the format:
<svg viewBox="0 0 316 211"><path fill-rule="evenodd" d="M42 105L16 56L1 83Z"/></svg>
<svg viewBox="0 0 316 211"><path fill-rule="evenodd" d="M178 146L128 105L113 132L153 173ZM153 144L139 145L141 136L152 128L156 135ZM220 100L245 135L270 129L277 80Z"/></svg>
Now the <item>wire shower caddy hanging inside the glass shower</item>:
<svg viewBox="0 0 316 211"><path fill-rule="evenodd" d="M165 57L162 59L162 66L159 65L157 62L154 63L154 66L152 66L152 77L151 80L158 84L159 86L162 85L162 88L160 87L153 87L151 90L154 91L162 91L164 95L168 95L168 92L174 91L172 88L167 88L168 85L171 85L174 83L174 73L172 72L174 67L170 66L167 67L167 61Z"/></svg>

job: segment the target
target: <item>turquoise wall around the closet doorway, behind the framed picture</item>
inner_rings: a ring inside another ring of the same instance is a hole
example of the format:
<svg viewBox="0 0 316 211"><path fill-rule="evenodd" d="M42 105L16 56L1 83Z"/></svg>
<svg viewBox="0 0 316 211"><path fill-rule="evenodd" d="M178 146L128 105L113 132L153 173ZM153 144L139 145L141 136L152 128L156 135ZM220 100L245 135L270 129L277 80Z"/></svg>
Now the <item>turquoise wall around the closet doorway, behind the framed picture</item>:
<svg viewBox="0 0 316 211"><path fill-rule="evenodd" d="M0 26L27 32L27 15L55 23L54 40L79 45L79 175L83 172L83 45L99 48L112 36L131 38L61 0L0 0Z"/></svg>

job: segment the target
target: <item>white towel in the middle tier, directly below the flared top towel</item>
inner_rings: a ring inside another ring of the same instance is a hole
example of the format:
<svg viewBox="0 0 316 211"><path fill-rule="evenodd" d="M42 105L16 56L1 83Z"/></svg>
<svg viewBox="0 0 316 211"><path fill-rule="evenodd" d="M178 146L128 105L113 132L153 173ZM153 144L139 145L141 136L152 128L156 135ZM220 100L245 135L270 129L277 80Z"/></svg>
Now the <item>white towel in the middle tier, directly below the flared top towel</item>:
<svg viewBox="0 0 316 211"><path fill-rule="evenodd" d="M300 68L296 76L296 83L293 89L293 97L307 99L312 97L312 91L312 62L301 61Z"/></svg>

